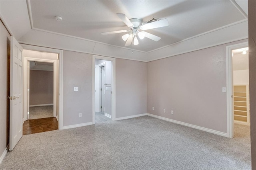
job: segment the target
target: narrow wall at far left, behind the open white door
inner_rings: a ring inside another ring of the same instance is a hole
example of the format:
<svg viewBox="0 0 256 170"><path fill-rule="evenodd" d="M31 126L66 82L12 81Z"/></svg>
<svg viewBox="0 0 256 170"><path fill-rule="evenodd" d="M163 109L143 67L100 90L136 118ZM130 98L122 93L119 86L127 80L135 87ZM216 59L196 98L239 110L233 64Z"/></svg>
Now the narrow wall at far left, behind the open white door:
<svg viewBox="0 0 256 170"><path fill-rule="evenodd" d="M0 156L9 144L9 101L7 98L7 58L10 57L10 34L0 21Z"/></svg>

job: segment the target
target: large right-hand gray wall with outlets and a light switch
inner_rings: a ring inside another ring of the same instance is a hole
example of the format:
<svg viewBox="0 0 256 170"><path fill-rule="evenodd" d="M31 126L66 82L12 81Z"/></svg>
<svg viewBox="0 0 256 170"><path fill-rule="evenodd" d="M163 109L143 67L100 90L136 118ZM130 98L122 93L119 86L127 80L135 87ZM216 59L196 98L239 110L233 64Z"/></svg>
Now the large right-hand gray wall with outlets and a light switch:
<svg viewBox="0 0 256 170"><path fill-rule="evenodd" d="M226 46L231 44L149 62L148 113L227 133L222 87L226 87Z"/></svg>

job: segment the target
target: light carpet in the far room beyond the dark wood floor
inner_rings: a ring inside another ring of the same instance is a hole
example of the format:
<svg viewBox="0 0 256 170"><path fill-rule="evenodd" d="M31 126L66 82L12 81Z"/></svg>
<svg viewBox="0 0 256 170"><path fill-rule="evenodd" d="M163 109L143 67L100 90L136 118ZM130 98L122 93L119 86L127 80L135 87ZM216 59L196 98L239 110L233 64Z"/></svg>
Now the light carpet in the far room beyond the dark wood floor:
<svg viewBox="0 0 256 170"><path fill-rule="evenodd" d="M29 119L53 117L53 106L29 107Z"/></svg>

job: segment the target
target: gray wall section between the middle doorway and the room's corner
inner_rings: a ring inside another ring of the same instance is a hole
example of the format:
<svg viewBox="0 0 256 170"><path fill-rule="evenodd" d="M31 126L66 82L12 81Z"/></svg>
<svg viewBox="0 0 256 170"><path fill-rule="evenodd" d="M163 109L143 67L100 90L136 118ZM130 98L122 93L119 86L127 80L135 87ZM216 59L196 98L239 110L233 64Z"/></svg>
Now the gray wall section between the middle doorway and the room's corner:
<svg viewBox="0 0 256 170"><path fill-rule="evenodd" d="M147 113L147 63L116 59L116 118Z"/></svg>

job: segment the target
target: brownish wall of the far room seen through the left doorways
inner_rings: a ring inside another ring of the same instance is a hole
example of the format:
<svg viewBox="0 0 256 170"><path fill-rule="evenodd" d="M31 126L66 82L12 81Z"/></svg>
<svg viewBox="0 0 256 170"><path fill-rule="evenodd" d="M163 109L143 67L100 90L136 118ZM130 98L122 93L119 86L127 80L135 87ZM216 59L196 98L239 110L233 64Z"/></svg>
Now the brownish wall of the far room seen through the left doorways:
<svg viewBox="0 0 256 170"><path fill-rule="evenodd" d="M53 104L53 71L30 70L29 104Z"/></svg>

